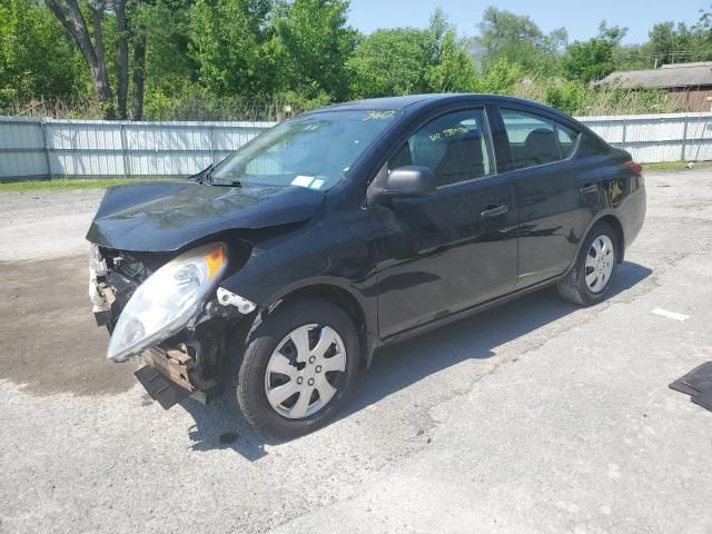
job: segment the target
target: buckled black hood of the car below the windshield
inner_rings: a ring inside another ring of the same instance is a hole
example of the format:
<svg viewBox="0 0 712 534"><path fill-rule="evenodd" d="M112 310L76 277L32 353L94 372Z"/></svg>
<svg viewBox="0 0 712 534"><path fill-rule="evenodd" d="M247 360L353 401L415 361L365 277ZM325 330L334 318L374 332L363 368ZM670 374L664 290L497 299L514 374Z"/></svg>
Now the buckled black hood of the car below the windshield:
<svg viewBox="0 0 712 534"><path fill-rule="evenodd" d="M295 186L119 186L107 190L87 239L119 250L172 251L225 230L306 221L323 201L324 192Z"/></svg>

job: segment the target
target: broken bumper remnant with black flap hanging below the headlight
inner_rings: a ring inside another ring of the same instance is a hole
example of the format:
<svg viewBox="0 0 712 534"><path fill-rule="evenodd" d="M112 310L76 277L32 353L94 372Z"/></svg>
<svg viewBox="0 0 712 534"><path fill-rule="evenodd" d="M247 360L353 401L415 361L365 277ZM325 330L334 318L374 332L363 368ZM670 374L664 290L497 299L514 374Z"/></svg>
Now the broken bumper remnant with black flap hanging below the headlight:
<svg viewBox="0 0 712 534"><path fill-rule="evenodd" d="M149 348L141 357L147 365L134 375L164 409L170 408L196 392L196 387L190 382L194 362L186 353Z"/></svg>

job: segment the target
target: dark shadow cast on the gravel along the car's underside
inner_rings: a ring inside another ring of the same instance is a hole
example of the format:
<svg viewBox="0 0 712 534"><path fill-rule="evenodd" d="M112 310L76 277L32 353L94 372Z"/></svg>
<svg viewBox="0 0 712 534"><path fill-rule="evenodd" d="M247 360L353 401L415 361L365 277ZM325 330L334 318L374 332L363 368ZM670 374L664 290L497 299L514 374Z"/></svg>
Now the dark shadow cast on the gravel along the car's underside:
<svg viewBox="0 0 712 534"><path fill-rule="evenodd" d="M637 264L620 266L609 298L625 291L652 271ZM572 312L552 288L543 289L452 325L380 350L363 373L340 417L374 404L423 378L466 359L485 359L494 349ZM196 424L190 429L195 451L233 448L250 461L264 456L266 444L284 443L257 434L225 398L210 406L188 399L182 404Z"/></svg>

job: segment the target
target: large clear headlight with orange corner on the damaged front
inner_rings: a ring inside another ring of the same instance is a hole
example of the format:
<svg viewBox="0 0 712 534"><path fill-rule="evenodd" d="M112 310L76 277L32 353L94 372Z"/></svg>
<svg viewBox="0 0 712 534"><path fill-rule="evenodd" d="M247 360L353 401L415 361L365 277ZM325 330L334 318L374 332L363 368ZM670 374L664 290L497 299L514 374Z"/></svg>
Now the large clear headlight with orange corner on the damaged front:
<svg viewBox="0 0 712 534"><path fill-rule="evenodd" d="M107 358L126 362L184 328L227 268L225 244L181 254L149 276L131 296L113 328Z"/></svg>

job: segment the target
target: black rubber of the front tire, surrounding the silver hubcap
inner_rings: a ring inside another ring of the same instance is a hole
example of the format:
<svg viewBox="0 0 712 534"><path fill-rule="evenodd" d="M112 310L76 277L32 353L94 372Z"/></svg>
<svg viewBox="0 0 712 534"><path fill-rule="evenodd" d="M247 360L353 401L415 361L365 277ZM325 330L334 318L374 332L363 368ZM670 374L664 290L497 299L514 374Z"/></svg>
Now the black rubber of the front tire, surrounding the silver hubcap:
<svg viewBox="0 0 712 534"><path fill-rule="evenodd" d="M336 330L344 343L346 369L337 374L336 393L315 414L293 419L277 413L267 400L265 374L269 359L281 340L296 328L318 324ZM247 421L266 435L290 438L308 434L328 422L342 407L358 374L358 334L349 316L338 306L320 299L285 303L257 324L247 336L243 357L236 357L228 396ZM239 352L234 346L231 352Z"/></svg>

